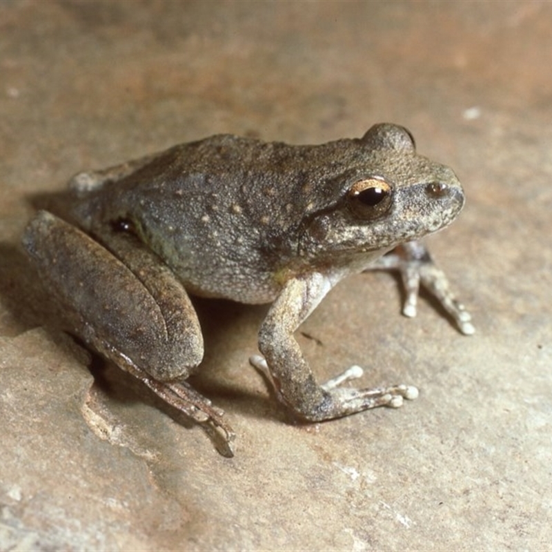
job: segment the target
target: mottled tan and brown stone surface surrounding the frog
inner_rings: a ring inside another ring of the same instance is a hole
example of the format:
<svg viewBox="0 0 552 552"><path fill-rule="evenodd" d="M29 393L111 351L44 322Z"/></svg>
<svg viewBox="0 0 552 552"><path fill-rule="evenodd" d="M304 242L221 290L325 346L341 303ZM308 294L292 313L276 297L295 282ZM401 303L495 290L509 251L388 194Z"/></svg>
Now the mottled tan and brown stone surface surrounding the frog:
<svg viewBox="0 0 552 552"><path fill-rule="evenodd" d="M552 4L0 3L0 549L552 546ZM431 248L477 333L385 273L297 339L320 379L420 398L300 425L248 365L264 306L197 302L195 384L233 459L52 316L21 248L33 198L216 132L317 143L393 121L468 203ZM314 337L309 339L307 336Z"/></svg>

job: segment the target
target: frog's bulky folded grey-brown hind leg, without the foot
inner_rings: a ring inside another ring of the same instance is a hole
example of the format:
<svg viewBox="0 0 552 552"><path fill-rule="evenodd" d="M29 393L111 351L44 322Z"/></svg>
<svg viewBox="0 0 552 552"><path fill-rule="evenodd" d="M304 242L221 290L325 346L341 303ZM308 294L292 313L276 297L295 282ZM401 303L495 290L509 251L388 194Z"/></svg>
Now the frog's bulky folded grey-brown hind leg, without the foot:
<svg viewBox="0 0 552 552"><path fill-rule="evenodd" d="M69 331L122 368L130 364L157 380L186 377L203 356L186 291L155 255L129 246L128 236L115 236L114 243L124 262L46 212L30 222L23 237Z"/></svg>

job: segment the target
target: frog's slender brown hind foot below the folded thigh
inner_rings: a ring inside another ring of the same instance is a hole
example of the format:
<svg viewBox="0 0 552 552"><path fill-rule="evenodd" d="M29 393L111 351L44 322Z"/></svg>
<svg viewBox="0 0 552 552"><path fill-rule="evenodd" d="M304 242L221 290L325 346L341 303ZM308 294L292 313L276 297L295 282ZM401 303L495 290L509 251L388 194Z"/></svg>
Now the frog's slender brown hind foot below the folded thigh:
<svg viewBox="0 0 552 552"><path fill-rule="evenodd" d="M224 411L221 408L213 406L210 400L195 391L186 381L161 382L136 366L132 366L129 371L170 406L202 424L221 455L233 457L233 441L236 435L224 420Z"/></svg>

